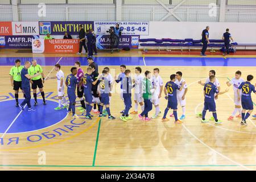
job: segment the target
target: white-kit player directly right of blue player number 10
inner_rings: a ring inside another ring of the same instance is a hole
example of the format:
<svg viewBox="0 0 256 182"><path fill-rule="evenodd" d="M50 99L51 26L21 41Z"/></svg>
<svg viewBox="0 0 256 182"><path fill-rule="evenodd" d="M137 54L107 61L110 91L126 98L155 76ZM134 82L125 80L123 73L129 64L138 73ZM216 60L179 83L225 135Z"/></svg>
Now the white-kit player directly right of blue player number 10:
<svg viewBox="0 0 256 182"><path fill-rule="evenodd" d="M176 72L176 80L175 80L175 84L177 84L178 86L182 86L182 83L185 82L185 80L182 78L182 73L181 72ZM186 99L185 99L185 95L188 92L188 86L187 84L185 84L183 86L183 89L177 90L177 101L178 104L181 106L182 109L182 115L180 117L180 119L185 119L185 105L186 105Z"/></svg>

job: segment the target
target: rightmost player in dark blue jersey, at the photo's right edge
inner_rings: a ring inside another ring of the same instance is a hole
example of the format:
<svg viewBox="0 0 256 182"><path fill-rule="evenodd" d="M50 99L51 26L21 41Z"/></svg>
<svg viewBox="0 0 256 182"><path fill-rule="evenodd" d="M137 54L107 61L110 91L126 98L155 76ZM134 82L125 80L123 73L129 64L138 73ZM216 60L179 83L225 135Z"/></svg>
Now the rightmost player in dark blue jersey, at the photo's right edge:
<svg viewBox="0 0 256 182"><path fill-rule="evenodd" d="M251 80L253 80L253 75L247 76L247 81L242 82L242 84L238 87L237 93L240 93L242 90L242 97L240 98L240 94L238 94L238 100L242 101L242 121L241 125L247 125L246 119L249 118L250 114L253 112L253 101L251 100L251 92L256 93L255 86L251 84ZM247 113L246 113L246 110ZM245 114L246 113L246 114Z"/></svg>

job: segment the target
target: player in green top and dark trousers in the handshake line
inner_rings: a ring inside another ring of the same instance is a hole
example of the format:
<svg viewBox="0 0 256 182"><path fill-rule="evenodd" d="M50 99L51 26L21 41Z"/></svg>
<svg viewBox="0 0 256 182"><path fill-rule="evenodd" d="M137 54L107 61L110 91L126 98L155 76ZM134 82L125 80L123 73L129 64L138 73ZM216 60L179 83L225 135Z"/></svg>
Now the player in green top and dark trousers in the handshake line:
<svg viewBox="0 0 256 182"><path fill-rule="evenodd" d="M152 93L154 92L154 88L152 87L152 83L150 81L151 72L145 72L145 78L142 80L142 93L144 100L144 110L141 114L138 115L139 119L142 121L150 121L151 119L148 117L148 112L152 110Z"/></svg>

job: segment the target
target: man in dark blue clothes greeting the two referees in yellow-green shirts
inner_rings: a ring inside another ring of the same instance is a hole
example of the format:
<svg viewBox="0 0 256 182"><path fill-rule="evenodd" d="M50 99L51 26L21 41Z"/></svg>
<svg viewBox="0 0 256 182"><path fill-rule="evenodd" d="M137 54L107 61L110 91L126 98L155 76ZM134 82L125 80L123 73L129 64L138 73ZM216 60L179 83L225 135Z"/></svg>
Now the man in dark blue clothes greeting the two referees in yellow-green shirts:
<svg viewBox="0 0 256 182"><path fill-rule="evenodd" d="M27 104L28 111L34 111L35 109L33 109L30 104L30 100L31 100L30 79L41 75L41 73L36 73L36 75L33 75L33 76L28 75L28 68L30 68L30 65L31 65L30 61L26 61L24 68L20 72L20 76L22 78L22 90L24 91L26 98L22 102L22 104L19 105L19 108L20 110L24 110L24 106Z"/></svg>

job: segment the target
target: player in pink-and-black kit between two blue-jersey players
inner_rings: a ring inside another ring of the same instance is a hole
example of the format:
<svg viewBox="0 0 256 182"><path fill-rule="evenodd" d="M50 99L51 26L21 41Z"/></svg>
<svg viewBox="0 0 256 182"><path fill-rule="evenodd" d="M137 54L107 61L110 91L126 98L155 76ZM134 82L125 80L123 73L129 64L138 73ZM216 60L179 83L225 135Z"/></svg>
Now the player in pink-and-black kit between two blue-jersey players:
<svg viewBox="0 0 256 182"><path fill-rule="evenodd" d="M77 84L77 97L80 100L81 107L79 107L81 112L85 111L85 102L84 102L84 85L82 84L82 78L84 77L84 71L82 71L81 63L80 61L75 62L75 67L77 69L77 79L79 81L79 84Z"/></svg>

